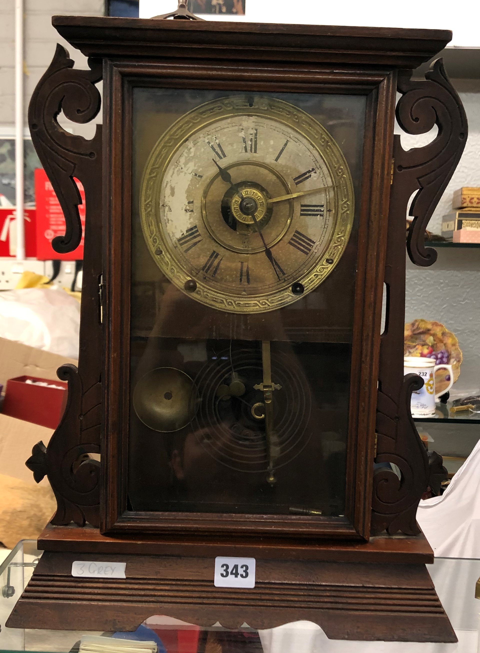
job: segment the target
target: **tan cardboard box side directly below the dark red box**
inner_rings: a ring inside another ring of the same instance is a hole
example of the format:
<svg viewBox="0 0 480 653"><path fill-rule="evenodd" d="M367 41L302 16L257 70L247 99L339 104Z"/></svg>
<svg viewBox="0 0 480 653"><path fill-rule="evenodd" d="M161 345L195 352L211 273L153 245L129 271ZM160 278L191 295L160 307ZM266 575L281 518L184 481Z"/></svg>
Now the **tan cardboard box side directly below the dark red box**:
<svg viewBox="0 0 480 653"><path fill-rule="evenodd" d="M53 432L52 428L0 413L0 474L37 485L33 480L33 472L25 466L25 460L30 458L31 450L40 440L45 446L48 445ZM50 483L45 477L40 485L48 486Z"/></svg>

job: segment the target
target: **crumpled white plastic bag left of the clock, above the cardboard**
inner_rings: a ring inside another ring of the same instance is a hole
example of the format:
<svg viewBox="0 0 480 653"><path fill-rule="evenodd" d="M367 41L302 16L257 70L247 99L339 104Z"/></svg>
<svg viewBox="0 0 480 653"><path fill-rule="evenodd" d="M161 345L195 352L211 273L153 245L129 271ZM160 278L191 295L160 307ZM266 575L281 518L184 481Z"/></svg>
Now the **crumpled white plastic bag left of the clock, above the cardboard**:
<svg viewBox="0 0 480 653"><path fill-rule="evenodd" d="M78 358L80 304L60 289L0 293L0 338Z"/></svg>

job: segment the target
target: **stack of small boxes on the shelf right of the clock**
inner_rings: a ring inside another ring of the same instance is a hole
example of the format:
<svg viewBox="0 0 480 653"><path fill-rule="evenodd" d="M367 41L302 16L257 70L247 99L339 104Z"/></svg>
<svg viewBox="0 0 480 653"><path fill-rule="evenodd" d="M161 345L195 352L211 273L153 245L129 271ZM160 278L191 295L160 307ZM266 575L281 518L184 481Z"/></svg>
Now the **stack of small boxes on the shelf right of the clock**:
<svg viewBox="0 0 480 653"><path fill-rule="evenodd" d="M441 235L454 243L480 243L480 188L453 193L453 212L443 216Z"/></svg>

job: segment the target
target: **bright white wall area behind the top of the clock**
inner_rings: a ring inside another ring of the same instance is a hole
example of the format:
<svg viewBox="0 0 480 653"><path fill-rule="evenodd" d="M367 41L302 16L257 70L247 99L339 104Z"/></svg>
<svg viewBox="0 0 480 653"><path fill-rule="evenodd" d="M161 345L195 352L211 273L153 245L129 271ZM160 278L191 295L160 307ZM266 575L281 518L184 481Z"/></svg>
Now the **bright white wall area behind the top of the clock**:
<svg viewBox="0 0 480 653"><path fill-rule="evenodd" d="M140 18L166 14L176 0L140 0ZM206 16L204 16L206 18ZM400 10L392 1L344 0L246 0L245 16L212 16L210 20L246 20L259 23L303 23L312 25L360 25L362 27L417 27L451 29L451 45L480 47L480 2L478 0L417 0Z"/></svg>

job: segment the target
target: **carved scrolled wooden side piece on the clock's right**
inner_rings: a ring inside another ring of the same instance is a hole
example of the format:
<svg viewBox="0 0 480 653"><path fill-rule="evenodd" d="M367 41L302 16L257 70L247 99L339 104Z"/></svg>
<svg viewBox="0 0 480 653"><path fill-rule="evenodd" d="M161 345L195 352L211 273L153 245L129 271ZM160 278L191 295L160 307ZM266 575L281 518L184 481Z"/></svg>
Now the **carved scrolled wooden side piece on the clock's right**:
<svg viewBox="0 0 480 653"><path fill-rule="evenodd" d="M436 251L424 247L428 221L451 179L464 150L467 121L464 108L451 86L441 59L426 72L425 81L411 81L411 71L398 74L402 93L396 107L398 123L410 134L438 127L438 135L423 148L404 150L400 136L394 137L393 180L389 210L385 285L387 316L381 337L377 398L377 463L392 463L374 474L372 534L387 530L416 535L415 520L421 496L428 485L428 460L410 413L413 390L423 381L417 375L404 377L405 253L398 243L405 237L408 200L415 191L410 215L408 253L417 265L436 261Z"/></svg>

